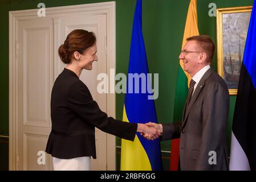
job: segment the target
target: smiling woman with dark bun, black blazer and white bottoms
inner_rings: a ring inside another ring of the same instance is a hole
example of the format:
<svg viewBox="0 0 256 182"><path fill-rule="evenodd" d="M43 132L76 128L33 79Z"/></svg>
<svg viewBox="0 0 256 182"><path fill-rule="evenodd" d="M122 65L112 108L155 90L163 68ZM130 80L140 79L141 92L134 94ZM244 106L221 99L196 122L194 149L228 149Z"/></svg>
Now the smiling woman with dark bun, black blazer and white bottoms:
<svg viewBox="0 0 256 182"><path fill-rule="evenodd" d="M90 170L90 157L96 158L95 127L127 140L134 140L136 132L153 138L160 135L153 127L118 121L100 110L79 80L83 69L91 70L97 61L96 52L96 37L86 30L72 31L59 47L66 67L52 88L52 130L46 146L54 170Z"/></svg>

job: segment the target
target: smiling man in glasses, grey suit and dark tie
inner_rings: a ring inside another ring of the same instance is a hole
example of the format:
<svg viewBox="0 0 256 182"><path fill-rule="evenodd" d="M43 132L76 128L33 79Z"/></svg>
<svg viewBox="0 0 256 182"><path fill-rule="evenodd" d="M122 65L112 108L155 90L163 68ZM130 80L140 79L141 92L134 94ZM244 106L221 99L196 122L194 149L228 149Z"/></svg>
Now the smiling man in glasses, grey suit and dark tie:
<svg viewBox="0 0 256 182"><path fill-rule="evenodd" d="M161 140L180 138L181 170L228 170L229 92L225 81L210 68L214 52L208 35L187 39L180 59L192 80L182 122L147 124L161 131Z"/></svg>

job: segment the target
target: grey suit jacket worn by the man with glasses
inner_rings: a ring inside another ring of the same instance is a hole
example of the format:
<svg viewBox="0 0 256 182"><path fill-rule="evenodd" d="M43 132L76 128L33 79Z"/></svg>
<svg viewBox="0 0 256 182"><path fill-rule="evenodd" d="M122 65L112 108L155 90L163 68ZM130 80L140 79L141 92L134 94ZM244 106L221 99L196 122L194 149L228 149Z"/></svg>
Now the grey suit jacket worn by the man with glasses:
<svg viewBox="0 0 256 182"><path fill-rule="evenodd" d="M201 78L183 113L182 122L162 124L161 138L180 137L181 170L228 170L229 92L224 80L212 68Z"/></svg>

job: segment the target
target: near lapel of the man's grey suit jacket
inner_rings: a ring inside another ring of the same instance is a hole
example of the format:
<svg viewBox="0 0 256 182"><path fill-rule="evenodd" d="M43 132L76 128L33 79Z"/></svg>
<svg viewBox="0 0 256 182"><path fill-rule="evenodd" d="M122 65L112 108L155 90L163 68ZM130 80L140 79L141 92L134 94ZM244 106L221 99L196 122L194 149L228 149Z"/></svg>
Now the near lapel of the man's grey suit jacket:
<svg viewBox="0 0 256 182"><path fill-rule="evenodd" d="M184 128L184 126L186 125L186 121L188 119L189 112L192 109L194 102L196 102L197 97L200 94L201 90L204 88L205 81L209 78L210 75L212 75L213 72L214 72L214 70L212 68L208 69L208 71L205 72L204 76L202 76L201 80L198 82L196 90L194 90L194 93L193 93L191 100L189 102L189 105L188 105L188 109L186 111L185 111L185 107L184 107L184 110L183 110L184 117L183 117L183 122L182 122L182 128Z"/></svg>

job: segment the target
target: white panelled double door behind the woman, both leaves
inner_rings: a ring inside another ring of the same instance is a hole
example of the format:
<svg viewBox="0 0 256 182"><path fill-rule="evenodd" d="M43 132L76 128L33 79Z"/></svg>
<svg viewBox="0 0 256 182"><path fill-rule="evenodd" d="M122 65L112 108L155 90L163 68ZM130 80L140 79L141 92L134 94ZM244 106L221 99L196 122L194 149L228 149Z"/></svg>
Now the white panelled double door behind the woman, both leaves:
<svg viewBox="0 0 256 182"><path fill-rule="evenodd" d="M96 77L107 73L107 17L74 15L49 19L36 18L18 22L18 115L17 169L51 170L51 157L38 164L38 151L44 151L51 130L50 94L56 76L64 64L55 60L60 44L74 29L95 32L98 61L92 71L83 71L80 79L88 86L100 109L107 111L107 94L97 93ZM56 23L58 31L56 31ZM54 42L59 37L58 42ZM56 65L58 69L56 69ZM97 159L91 160L92 170L107 169L107 134L96 129Z"/></svg>

